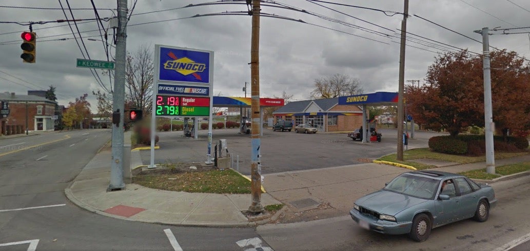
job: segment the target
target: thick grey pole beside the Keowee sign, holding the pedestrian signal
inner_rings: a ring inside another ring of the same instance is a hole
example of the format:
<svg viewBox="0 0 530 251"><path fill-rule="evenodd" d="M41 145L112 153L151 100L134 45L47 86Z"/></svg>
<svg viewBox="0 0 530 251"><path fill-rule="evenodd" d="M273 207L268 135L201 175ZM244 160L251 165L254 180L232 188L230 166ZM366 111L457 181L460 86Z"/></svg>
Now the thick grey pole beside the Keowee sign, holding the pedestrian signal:
<svg viewBox="0 0 530 251"><path fill-rule="evenodd" d="M108 191L125 188L123 183L123 115L125 111L125 55L127 0L118 0L118 32L116 33L116 63L114 64L114 92L112 111L119 113L119 121L112 124L112 161Z"/></svg>

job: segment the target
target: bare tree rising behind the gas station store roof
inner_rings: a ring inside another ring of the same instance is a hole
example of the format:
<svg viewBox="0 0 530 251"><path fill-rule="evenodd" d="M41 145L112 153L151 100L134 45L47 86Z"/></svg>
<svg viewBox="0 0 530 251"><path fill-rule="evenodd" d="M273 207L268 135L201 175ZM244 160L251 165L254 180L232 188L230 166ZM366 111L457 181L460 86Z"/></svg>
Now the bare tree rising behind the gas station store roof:
<svg viewBox="0 0 530 251"><path fill-rule="evenodd" d="M315 79L315 89L311 92L311 97L332 98L339 96L356 95L363 93L361 80L348 75L335 74Z"/></svg>

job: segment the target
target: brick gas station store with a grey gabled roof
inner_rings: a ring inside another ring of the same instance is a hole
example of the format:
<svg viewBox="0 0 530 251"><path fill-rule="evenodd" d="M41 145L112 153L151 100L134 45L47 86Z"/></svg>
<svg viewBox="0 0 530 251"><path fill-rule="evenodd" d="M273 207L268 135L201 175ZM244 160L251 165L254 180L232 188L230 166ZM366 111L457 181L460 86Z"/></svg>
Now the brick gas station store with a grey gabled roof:
<svg viewBox="0 0 530 251"><path fill-rule="evenodd" d="M363 125L363 110L357 105L339 105L338 97L290 102L272 115L275 123L311 124L324 132L352 131Z"/></svg>

